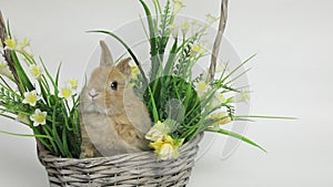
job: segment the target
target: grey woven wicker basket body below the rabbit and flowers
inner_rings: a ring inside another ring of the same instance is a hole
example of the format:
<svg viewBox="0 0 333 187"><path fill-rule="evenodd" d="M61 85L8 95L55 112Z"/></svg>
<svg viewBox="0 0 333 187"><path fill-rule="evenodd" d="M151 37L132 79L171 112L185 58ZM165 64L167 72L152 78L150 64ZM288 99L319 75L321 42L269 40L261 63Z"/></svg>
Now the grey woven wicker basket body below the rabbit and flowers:
<svg viewBox="0 0 333 187"><path fill-rule="evenodd" d="M191 176L199 143L198 135L179 148L178 159L158 162L151 152L87 159L59 158L40 150L50 187L184 187Z"/></svg>

